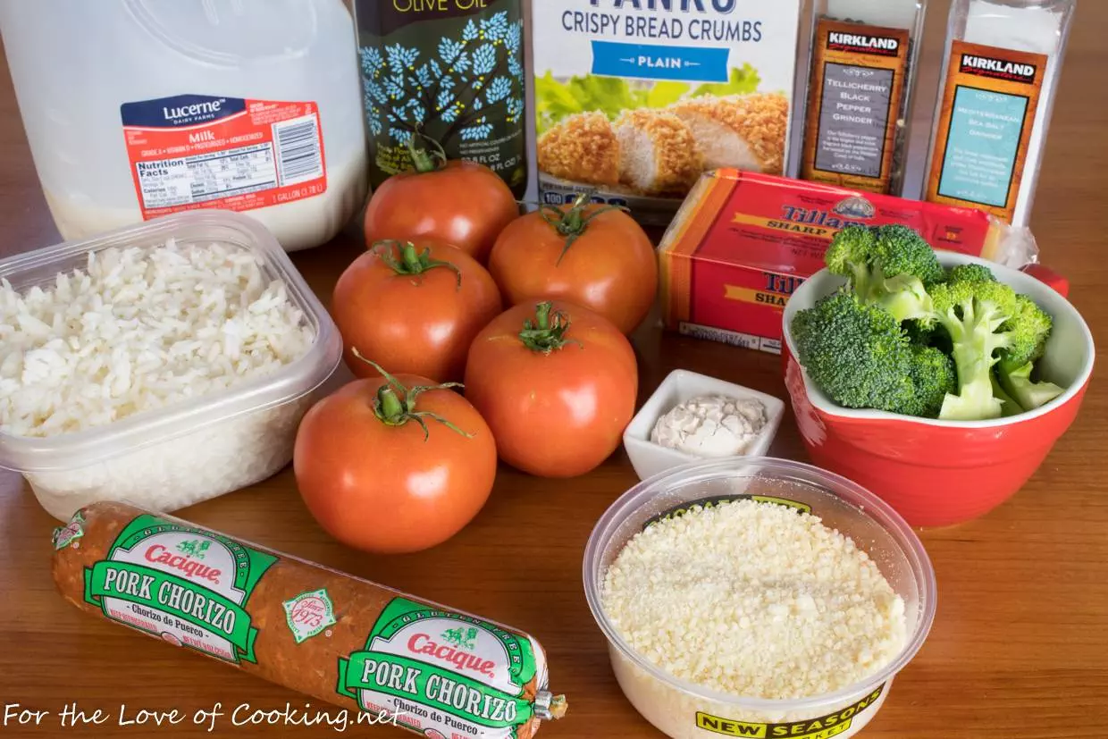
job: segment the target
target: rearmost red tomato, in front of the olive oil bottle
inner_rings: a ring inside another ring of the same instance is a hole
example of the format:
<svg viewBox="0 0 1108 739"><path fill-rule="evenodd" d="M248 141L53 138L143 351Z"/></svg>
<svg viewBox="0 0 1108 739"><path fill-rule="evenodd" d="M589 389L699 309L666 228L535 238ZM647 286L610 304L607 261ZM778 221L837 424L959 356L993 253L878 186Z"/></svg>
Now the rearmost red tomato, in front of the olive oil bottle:
<svg viewBox="0 0 1108 739"><path fill-rule="evenodd" d="M419 162L419 160L417 160ZM366 243L432 236L484 263L496 236L520 215L511 188L473 162L392 175L366 208Z"/></svg>

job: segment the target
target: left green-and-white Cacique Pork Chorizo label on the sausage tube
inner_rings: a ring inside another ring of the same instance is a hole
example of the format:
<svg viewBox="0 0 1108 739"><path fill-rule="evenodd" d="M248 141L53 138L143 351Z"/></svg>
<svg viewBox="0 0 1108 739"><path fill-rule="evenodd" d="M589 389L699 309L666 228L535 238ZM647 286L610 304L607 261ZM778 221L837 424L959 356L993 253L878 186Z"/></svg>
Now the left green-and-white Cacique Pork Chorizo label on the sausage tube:
<svg viewBox="0 0 1108 739"><path fill-rule="evenodd" d="M104 615L230 663L257 661L246 602L277 561L199 528L134 519L107 558L84 571L84 599Z"/></svg>

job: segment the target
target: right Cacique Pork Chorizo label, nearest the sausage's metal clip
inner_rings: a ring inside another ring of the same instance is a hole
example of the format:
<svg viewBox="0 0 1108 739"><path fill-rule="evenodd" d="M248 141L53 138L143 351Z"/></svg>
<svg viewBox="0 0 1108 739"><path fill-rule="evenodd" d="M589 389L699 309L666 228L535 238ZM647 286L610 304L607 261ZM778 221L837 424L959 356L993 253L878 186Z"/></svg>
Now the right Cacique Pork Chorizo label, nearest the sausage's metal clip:
<svg viewBox="0 0 1108 739"><path fill-rule="evenodd" d="M526 638L406 598L389 603L366 649L338 671L337 691L362 710L441 736L509 739L534 712L523 690L537 671Z"/></svg>

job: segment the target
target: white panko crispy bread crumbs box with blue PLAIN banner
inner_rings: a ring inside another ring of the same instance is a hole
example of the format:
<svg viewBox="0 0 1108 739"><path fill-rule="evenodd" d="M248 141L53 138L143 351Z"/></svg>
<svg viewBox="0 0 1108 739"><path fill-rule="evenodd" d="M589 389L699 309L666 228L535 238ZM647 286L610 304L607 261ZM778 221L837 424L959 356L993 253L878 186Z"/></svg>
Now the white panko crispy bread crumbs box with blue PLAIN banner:
<svg viewBox="0 0 1108 739"><path fill-rule="evenodd" d="M668 224L700 174L782 174L806 0L541 0L538 196Z"/></svg>

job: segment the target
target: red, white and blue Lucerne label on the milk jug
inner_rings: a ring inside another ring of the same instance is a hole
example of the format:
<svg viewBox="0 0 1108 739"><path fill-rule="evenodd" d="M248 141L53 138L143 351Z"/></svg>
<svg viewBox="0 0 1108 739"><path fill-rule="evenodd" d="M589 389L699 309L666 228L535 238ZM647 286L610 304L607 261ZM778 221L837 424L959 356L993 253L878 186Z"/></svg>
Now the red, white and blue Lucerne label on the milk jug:
<svg viewBox="0 0 1108 739"><path fill-rule="evenodd" d="M248 211L327 188L314 103L182 95L123 106L143 215Z"/></svg>

